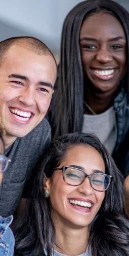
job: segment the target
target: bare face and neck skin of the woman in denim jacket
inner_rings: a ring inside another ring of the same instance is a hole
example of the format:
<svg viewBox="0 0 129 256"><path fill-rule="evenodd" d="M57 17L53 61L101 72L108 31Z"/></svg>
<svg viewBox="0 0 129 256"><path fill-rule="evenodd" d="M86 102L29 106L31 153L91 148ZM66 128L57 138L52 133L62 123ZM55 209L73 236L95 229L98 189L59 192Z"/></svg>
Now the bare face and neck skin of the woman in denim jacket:
<svg viewBox="0 0 129 256"><path fill-rule="evenodd" d="M102 113L112 105L126 72L126 38L120 22L103 12L86 18L80 29L80 54L84 77L90 81L84 85L84 99L96 114ZM113 71L102 76L102 70Z"/></svg>

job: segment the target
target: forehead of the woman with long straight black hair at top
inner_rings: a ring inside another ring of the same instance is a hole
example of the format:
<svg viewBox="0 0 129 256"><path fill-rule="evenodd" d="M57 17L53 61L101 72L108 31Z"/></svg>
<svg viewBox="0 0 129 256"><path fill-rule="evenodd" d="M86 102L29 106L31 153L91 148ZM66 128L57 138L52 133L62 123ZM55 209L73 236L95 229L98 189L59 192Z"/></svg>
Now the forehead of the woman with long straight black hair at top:
<svg viewBox="0 0 129 256"><path fill-rule="evenodd" d="M125 36L123 27L119 20L107 13L97 13L93 14L92 16L86 18L80 29L80 35L83 33L88 32L89 34L98 35L100 32L107 33L110 36Z"/></svg>

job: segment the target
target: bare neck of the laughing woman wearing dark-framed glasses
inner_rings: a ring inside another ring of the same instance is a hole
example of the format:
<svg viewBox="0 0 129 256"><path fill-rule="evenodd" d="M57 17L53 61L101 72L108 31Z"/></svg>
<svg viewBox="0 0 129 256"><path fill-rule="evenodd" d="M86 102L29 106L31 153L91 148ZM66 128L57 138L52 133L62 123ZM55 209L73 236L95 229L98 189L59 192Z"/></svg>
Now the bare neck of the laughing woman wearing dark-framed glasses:
<svg viewBox="0 0 129 256"><path fill-rule="evenodd" d="M56 227L55 250L69 256L79 255L88 247L89 232L87 228L73 229L58 222Z"/></svg>

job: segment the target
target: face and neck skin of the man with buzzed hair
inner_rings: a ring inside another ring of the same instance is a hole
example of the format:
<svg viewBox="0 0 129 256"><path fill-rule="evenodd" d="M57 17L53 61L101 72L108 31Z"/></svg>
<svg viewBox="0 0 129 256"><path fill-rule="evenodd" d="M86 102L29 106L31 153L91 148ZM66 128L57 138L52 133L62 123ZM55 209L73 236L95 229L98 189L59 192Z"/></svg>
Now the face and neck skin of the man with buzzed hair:
<svg viewBox="0 0 129 256"><path fill-rule="evenodd" d="M19 45L8 50L0 66L0 116L7 132L6 148L45 117L55 80L56 64L51 55L37 55ZM19 120L11 108L31 117L27 121Z"/></svg>

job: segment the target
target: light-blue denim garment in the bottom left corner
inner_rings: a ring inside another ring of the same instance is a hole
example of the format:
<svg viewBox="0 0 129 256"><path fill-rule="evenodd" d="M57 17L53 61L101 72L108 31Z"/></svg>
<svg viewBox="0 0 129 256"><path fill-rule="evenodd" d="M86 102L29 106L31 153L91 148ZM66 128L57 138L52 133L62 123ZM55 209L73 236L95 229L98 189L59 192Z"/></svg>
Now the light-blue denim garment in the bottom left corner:
<svg viewBox="0 0 129 256"><path fill-rule="evenodd" d="M0 216L0 255L13 256L14 255L14 235L9 225L13 221L13 216L3 218Z"/></svg>

